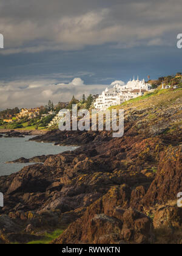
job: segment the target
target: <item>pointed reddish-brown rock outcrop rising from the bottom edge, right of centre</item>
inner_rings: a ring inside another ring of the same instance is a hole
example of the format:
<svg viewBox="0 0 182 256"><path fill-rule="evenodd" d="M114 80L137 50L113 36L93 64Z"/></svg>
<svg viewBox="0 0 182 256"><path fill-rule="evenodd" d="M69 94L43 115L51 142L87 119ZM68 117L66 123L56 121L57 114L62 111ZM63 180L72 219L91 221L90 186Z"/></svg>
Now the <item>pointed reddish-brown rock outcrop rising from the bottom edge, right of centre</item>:
<svg viewBox="0 0 182 256"><path fill-rule="evenodd" d="M129 208L130 193L113 187L53 243L153 243L152 220Z"/></svg>

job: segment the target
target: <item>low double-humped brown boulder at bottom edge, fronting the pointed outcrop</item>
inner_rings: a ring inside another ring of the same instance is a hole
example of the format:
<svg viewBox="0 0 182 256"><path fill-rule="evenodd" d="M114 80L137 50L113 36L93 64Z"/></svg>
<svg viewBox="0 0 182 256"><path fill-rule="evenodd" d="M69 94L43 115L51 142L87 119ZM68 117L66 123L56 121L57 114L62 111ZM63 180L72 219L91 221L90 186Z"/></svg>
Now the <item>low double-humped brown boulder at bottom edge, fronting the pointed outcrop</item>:
<svg viewBox="0 0 182 256"><path fill-rule="evenodd" d="M88 229L89 243L152 243L152 221L146 215L130 208L120 219L104 214L95 215Z"/></svg>

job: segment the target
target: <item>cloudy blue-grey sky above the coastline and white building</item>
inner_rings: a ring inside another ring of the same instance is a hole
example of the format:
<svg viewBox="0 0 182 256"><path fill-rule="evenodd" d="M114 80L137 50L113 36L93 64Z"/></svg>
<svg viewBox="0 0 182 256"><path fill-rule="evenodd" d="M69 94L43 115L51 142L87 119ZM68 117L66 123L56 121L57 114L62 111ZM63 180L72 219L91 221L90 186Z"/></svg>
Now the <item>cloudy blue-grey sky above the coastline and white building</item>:
<svg viewBox="0 0 182 256"><path fill-rule="evenodd" d="M0 109L182 71L181 0L1 0Z"/></svg>

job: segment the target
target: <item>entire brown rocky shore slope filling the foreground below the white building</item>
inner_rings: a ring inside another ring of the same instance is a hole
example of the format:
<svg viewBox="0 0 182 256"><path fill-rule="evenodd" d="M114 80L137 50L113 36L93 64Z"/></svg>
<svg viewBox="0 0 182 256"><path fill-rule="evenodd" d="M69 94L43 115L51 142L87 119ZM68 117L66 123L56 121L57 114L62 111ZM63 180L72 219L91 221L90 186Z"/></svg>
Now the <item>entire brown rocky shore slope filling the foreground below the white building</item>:
<svg viewBox="0 0 182 256"><path fill-rule="evenodd" d="M125 106L122 138L60 131L36 137L80 148L0 177L0 243L12 233L23 243L22 234L27 241L58 227L66 230L52 243L181 243L182 102L170 94L166 105L157 97L153 105L146 99Z"/></svg>

